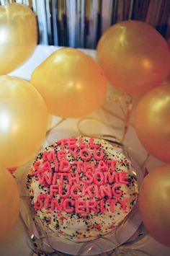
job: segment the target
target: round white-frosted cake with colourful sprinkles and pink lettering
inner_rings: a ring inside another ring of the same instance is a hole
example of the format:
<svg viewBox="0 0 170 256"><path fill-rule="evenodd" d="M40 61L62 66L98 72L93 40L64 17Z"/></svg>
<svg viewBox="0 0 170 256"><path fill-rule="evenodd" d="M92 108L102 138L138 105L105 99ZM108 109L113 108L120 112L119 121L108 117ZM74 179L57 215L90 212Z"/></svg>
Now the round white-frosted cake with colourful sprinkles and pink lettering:
<svg viewBox="0 0 170 256"><path fill-rule="evenodd" d="M27 190L45 231L85 242L121 224L135 205L138 183L122 149L80 136L57 141L36 156Z"/></svg>

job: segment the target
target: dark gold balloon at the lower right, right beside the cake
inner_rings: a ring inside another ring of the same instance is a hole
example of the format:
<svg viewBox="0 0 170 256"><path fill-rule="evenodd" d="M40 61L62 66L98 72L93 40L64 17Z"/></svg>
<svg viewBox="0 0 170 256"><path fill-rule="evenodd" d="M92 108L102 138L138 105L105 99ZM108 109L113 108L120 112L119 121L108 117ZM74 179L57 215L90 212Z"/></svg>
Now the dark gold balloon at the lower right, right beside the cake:
<svg viewBox="0 0 170 256"><path fill-rule="evenodd" d="M170 247L170 165L158 167L145 177L138 206L144 225L158 242Z"/></svg>

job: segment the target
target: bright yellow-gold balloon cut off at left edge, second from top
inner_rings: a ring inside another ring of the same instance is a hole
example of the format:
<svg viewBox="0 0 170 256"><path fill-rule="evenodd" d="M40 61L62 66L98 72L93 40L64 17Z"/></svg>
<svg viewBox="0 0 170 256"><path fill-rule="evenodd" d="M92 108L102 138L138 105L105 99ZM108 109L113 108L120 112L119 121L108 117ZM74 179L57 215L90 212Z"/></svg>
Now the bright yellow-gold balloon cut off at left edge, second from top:
<svg viewBox="0 0 170 256"><path fill-rule="evenodd" d="M19 167L35 156L47 124L47 107L35 87L0 76L0 166Z"/></svg>

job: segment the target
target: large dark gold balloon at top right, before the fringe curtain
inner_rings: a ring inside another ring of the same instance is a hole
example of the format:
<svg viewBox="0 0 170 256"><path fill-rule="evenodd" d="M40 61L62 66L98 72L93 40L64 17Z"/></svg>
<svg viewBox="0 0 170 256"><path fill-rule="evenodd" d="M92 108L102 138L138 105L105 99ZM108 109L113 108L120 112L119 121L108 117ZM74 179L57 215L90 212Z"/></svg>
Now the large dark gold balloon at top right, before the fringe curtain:
<svg viewBox="0 0 170 256"><path fill-rule="evenodd" d="M158 86L170 70L166 40L153 27L138 21L110 27L99 40L97 58L110 83L132 95Z"/></svg>

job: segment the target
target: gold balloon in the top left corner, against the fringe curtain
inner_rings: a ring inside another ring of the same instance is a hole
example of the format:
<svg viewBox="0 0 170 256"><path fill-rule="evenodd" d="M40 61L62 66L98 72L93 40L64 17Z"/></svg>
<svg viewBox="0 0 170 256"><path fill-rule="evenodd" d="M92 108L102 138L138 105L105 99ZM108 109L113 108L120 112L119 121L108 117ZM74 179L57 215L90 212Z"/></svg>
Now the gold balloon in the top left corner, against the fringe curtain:
<svg viewBox="0 0 170 256"><path fill-rule="evenodd" d="M37 22L22 4L0 6L0 74L21 65L37 45Z"/></svg>

